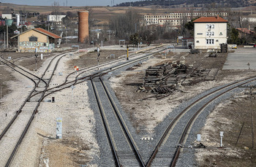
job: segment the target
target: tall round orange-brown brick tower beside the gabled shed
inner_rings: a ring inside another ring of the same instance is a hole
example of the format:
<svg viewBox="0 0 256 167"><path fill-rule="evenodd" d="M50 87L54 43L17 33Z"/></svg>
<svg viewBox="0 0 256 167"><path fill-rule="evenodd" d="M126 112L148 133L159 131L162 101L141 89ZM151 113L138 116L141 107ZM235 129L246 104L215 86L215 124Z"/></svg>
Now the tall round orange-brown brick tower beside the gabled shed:
<svg viewBox="0 0 256 167"><path fill-rule="evenodd" d="M89 12L78 12L78 42L84 42L86 38L89 38Z"/></svg>

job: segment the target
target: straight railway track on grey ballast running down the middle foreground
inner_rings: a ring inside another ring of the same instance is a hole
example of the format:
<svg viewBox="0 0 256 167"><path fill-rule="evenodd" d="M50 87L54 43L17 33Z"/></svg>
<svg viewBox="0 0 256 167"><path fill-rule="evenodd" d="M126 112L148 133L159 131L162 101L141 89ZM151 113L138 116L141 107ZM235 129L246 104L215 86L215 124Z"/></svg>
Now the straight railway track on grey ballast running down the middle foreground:
<svg viewBox="0 0 256 167"><path fill-rule="evenodd" d="M91 85L102 116L116 166L145 166L132 136L101 77L91 77Z"/></svg>

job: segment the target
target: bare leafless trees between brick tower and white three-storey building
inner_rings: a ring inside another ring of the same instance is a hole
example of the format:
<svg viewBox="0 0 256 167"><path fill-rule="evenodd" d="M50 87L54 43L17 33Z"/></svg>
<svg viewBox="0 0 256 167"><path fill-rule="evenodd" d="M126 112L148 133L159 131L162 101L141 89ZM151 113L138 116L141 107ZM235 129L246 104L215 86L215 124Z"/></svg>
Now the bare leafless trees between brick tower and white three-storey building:
<svg viewBox="0 0 256 167"><path fill-rule="evenodd" d="M130 44L138 45L139 42L151 44L159 39L176 39L180 33L173 30L170 24L164 26L147 25L140 23L143 19L135 10L128 10L124 15L110 19L110 30L116 39L129 39Z"/></svg>

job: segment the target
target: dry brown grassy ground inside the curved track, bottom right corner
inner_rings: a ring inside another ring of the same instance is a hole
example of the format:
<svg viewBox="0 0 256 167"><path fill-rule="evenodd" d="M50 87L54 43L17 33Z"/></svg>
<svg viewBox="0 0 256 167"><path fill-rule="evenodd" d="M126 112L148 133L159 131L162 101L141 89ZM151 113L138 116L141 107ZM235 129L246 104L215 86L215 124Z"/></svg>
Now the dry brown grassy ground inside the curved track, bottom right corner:
<svg viewBox="0 0 256 167"><path fill-rule="evenodd" d="M255 109L255 98L252 101ZM256 117L255 112L253 117ZM223 144L226 149L216 149L219 146L219 131L224 131ZM202 141L206 150L197 152L197 156L204 155L198 159L200 166L256 166L256 149L252 149L250 98L244 96L244 92L225 104L219 104L209 115L208 123L201 133L208 140Z"/></svg>

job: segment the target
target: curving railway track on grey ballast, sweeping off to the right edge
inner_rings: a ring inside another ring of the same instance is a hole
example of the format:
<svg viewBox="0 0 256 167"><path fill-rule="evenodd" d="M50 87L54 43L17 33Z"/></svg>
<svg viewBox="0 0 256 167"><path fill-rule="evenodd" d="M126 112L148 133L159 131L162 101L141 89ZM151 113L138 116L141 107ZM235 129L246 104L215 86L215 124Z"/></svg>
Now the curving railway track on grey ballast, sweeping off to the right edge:
<svg viewBox="0 0 256 167"><path fill-rule="evenodd" d="M204 109L206 109L209 104L223 96L225 93L255 80L256 77L242 79L238 82L233 82L215 90L211 90L201 98L192 101L191 104L176 115L165 129L165 132L159 139L146 166L176 166L181 149L188 148L188 145L185 145L185 143L192 125L195 123L199 114L204 112Z"/></svg>

